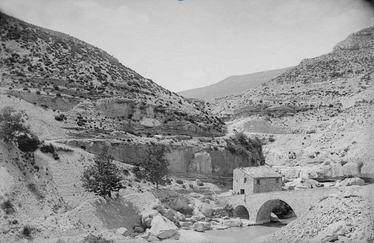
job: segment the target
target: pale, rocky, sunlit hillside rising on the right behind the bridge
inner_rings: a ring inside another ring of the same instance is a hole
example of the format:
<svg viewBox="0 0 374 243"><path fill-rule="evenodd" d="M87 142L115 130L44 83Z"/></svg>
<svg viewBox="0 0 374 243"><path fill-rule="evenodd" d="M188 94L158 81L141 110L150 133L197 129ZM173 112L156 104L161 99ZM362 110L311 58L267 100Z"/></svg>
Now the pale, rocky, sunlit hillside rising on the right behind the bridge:
<svg viewBox="0 0 374 243"><path fill-rule="evenodd" d="M374 27L241 95L209 101L230 133L262 136L266 163L299 177L374 178ZM297 166L297 167L294 167Z"/></svg>

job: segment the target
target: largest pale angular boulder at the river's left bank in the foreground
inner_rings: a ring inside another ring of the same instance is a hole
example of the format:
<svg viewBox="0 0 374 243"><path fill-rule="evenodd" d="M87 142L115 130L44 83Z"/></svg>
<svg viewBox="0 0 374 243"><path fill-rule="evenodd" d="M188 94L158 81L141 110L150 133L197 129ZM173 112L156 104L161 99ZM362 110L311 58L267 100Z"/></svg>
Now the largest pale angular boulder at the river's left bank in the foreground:
<svg viewBox="0 0 374 243"><path fill-rule="evenodd" d="M162 215L156 215L152 219L150 233L160 239L166 239L177 233L178 227Z"/></svg>

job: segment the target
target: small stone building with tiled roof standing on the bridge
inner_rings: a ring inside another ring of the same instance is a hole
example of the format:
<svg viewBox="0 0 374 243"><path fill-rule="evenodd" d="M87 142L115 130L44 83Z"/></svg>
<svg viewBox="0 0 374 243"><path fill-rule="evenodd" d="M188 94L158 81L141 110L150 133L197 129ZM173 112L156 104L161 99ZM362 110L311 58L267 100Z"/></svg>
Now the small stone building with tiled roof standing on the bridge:
<svg viewBox="0 0 374 243"><path fill-rule="evenodd" d="M282 190L282 176L267 165L234 169L232 189L239 194Z"/></svg>

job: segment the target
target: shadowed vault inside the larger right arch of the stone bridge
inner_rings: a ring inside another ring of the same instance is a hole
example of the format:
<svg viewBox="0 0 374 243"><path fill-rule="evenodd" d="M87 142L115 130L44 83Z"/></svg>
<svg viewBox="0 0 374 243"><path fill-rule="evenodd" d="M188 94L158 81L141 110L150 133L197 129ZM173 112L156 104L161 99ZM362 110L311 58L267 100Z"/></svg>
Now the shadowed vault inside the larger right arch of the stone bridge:
<svg viewBox="0 0 374 243"><path fill-rule="evenodd" d="M284 209L285 211L292 211L293 216L296 217L294 209L291 208L287 203L279 199L273 199L265 202L257 212L256 223L264 224L270 222L270 215L273 212L273 209L278 210L278 213ZM291 216L292 217L292 216Z"/></svg>

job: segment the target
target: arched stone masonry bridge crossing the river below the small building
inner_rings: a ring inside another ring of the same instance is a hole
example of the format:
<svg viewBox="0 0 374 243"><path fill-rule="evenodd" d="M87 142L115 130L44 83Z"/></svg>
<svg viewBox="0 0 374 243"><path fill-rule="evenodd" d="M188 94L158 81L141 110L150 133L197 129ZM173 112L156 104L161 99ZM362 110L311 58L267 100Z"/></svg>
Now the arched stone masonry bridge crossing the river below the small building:
<svg viewBox="0 0 374 243"><path fill-rule="evenodd" d="M248 218L254 224L270 222L270 213L279 201L288 204L299 217L310 206L339 191L338 187L320 187L303 190L272 191L255 194L242 194L216 197L217 205L232 205L234 217Z"/></svg>

